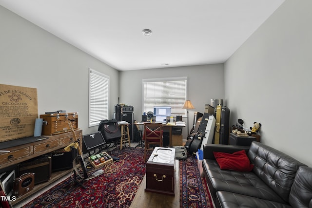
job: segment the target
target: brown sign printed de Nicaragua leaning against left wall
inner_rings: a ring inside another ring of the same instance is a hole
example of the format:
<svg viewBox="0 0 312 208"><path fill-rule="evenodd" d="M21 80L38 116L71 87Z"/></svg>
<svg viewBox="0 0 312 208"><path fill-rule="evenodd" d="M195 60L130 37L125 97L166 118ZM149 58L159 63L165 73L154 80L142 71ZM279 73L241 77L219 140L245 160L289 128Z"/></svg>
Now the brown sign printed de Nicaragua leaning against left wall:
<svg viewBox="0 0 312 208"><path fill-rule="evenodd" d="M33 136L37 89L0 84L0 142Z"/></svg>

